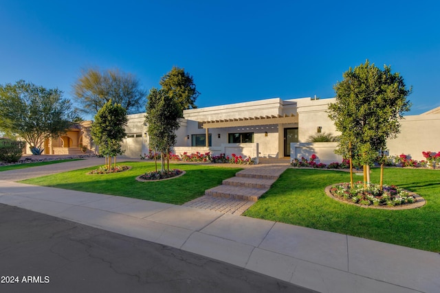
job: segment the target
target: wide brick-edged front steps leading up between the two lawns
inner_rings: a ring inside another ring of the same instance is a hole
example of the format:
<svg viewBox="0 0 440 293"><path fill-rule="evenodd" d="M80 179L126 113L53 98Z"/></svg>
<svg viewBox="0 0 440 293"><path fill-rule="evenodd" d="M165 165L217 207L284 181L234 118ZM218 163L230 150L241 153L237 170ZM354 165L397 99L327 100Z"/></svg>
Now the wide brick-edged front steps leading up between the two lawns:
<svg viewBox="0 0 440 293"><path fill-rule="evenodd" d="M235 177L223 180L223 184L205 191L205 196L259 200L289 165L264 165L243 169Z"/></svg>

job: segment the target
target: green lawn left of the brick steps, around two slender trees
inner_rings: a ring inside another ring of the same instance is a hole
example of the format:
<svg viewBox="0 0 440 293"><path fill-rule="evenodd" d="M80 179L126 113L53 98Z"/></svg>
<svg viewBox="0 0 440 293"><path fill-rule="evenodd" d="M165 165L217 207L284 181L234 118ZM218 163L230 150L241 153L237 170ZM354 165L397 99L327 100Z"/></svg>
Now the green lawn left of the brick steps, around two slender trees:
<svg viewBox="0 0 440 293"><path fill-rule="evenodd" d="M78 191L126 196L142 200L154 200L171 204L184 204L203 196L206 189L221 185L221 181L233 177L240 168L212 165L170 164L170 169L182 169L186 174L170 180L138 182L135 178L155 169L150 162L124 162L132 168L115 174L86 175L97 167L43 176L21 181L33 185L73 189Z"/></svg>

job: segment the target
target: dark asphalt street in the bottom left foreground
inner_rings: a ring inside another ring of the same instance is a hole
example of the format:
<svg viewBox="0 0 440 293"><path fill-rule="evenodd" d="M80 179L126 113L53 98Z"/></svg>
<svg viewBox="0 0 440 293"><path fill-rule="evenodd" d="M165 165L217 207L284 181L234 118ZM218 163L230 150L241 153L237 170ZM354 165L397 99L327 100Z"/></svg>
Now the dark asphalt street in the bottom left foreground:
<svg viewBox="0 0 440 293"><path fill-rule="evenodd" d="M0 292L314 292L142 239L0 204ZM13 283L12 283L13 282Z"/></svg>

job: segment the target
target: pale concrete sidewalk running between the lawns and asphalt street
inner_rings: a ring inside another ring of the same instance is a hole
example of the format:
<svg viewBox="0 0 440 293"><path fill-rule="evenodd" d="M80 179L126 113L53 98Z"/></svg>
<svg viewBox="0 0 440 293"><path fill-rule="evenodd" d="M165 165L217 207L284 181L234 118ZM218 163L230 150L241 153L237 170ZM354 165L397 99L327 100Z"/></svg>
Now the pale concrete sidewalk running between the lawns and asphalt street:
<svg viewBox="0 0 440 293"><path fill-rule="evenodd" d="M3 204L190 251L318 292L440 291L438 253L218 211L24 185L5 175L0 172Z"/></svg>

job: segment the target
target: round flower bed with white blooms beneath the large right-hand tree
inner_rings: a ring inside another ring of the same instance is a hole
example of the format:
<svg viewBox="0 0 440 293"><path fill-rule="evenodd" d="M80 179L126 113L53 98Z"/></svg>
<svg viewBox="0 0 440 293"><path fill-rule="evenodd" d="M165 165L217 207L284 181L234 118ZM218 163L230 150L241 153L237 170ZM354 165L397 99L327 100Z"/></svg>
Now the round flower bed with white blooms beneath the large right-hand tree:
<svg viewBox="0 0 440 293"><path fill-rule="evenodd" d="M415 195L394 185L384 185L381 191L379 185L372 183L367 189L364 189L362 182L355 183L353 189L350 183L340 183L330 187L329 191L340 200L364 206L396 207L417 202Z"/></svg>

